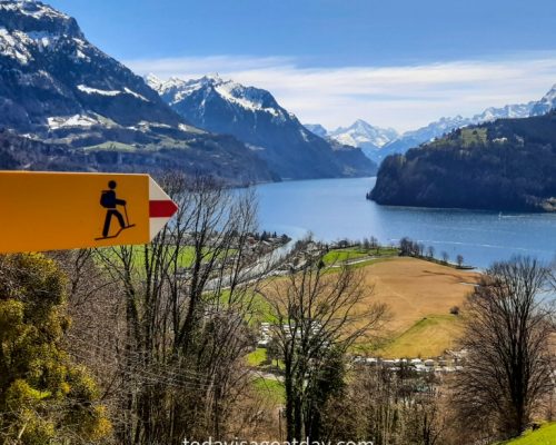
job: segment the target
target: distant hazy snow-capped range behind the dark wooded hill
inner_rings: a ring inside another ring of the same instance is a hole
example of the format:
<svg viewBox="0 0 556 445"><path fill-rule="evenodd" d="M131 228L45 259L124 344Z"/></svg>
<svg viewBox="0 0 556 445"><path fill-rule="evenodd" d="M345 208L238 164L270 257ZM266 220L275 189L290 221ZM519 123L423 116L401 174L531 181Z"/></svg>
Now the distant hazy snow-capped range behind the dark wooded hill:
<svg viewBox="0 0 556 445"><path fill-rule="evenodd" d="M425 127L406 131L403 135L396 134L393 129L374 127L364 120L357 120L348 128L338 128L334 131L327 131L319 125L309 125L307 128L311 131L314 129L318 130L322 137L359 147L370 159L380 164L389 155L404 154L410 148L431 141L457 128L489 122L496 119L540 116L554 108L556 108L556 85L538 101L508 105L502 108L487 108L481 113L470 118L461 116L440 118Z"/></svg>

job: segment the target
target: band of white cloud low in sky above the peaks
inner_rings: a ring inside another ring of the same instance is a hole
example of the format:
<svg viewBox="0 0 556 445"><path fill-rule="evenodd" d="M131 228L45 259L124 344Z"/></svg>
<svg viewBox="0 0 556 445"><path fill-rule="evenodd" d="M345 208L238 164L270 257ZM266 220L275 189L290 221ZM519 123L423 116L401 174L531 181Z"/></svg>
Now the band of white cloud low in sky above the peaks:
<svg viewBox="0 0 556 445"><path fill-rule="evenodd" d="M268 89L302 122L330 129L357 118L415 129L441 116L471 116L487 107L537 100L556 82L556 53L397 67L305 68L290 58L230 56L127 65L140 75L153 72L162 79L218 72Z"/></svg>

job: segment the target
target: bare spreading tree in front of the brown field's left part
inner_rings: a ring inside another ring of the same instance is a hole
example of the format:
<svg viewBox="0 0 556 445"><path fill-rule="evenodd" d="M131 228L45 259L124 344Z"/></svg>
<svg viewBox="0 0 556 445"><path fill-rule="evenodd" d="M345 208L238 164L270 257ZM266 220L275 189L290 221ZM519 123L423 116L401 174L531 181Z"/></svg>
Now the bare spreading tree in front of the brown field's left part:
<svg viewBox="0 0 556 445"><path fill-rule="evenodd" d="M384 305L363 304L373 289L358 270L342 265L332 273L320 255L305 260L264 291L285 364L288 441L319 439L321 408L344 382L344 355L385 315Z"/></svg>

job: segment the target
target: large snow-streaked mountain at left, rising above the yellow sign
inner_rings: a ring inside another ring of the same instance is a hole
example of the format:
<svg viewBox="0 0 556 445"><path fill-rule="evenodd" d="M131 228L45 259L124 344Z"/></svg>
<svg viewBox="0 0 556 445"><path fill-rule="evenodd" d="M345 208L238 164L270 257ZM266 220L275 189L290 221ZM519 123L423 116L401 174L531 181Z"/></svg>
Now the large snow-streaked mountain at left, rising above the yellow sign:
<svg viewBox="0 0 556 445"><path fill-rule="evenodd" d="M271 178L252 150L187 125L141 77L90 43L73 18L39 1L0 0L0 129L101 150L99 159L115 160L107 160L111 169Z"/></svg>

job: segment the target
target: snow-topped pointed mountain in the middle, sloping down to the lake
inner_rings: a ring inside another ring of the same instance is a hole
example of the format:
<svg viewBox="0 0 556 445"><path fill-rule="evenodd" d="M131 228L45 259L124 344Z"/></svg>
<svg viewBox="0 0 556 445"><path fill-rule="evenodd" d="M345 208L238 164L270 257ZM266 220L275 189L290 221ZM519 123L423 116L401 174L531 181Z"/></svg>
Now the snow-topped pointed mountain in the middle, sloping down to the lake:
<svg viewBox="0 0 556 445"><path fill-rule="evenodd" d="M376 166L357 148L331 144L307 130L264 89L218 76L162 81L151 88L187 121L248 144L281 178L366 176Z"/></svg>

